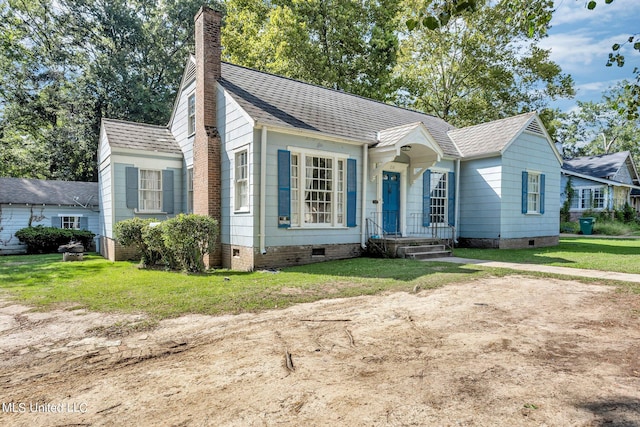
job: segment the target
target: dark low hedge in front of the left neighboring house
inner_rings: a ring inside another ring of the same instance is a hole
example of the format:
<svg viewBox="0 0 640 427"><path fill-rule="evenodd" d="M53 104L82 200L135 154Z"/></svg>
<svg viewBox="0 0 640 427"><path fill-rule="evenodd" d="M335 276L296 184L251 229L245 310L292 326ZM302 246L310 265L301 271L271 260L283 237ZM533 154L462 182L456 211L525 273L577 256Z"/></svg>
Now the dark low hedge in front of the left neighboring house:
<svg viewBox="0 0 640 427"><path fill-rule="evenodd" d="M85 249L91 247L95 234L88 230L45 227L38 225L16 231L16 237L27 245L30 254L48 254L58 252L58 247L71 241L82 243Z"/></svg>

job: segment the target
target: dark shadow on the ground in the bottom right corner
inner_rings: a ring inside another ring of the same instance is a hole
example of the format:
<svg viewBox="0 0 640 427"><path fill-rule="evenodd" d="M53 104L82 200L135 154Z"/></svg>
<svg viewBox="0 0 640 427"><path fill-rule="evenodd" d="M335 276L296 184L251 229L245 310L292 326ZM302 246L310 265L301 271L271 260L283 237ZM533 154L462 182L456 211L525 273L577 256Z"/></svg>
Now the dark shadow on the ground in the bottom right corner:
<svg viewBox="0 0 640 427"><path fill-rule="evenodd" d="M640 426L640 399L620 396L578 405L595 416L594 426Z"/></svg>

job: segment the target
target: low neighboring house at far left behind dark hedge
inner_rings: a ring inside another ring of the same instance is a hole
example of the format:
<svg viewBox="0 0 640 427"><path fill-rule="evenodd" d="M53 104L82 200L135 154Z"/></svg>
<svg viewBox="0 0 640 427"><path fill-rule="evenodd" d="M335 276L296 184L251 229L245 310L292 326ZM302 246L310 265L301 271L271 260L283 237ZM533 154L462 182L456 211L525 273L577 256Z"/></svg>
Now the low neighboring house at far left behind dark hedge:
<svg viewBox="0 0 640 427"><path fill-rule="evenodd" d="M26 252L15 232L29 226L98 234L98 183L0 178L0 255Z"/></svg>

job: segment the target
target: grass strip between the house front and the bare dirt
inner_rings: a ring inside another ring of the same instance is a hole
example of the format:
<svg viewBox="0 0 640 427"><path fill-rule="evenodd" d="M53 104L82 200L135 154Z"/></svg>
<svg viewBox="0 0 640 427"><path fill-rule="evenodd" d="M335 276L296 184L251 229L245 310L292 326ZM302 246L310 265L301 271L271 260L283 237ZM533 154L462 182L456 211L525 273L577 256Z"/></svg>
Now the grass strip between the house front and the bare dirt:
<svg viewBox="0 0 640 427"><path fill-rule="evenodd" d="M87 255L62 262L59 254L0 257L0 289L24 303L49 309L146 313L153 319L186 313L222 314L282 308L323 298L435 288L507 271L449 263L357 258L280 272L205 274L143 270L130 262ZM130 327L130 325L126 326Z"/></svg>

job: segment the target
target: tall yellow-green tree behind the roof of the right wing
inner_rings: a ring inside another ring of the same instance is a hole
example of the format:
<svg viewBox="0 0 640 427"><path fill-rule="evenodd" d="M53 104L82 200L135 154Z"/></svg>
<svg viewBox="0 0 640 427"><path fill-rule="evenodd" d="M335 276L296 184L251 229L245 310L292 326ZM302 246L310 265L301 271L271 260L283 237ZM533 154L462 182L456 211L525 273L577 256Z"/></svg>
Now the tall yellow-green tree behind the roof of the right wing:
<svg viewBox="0 0 640 427"><path fill-rule="evenodd" d="M546 0L531 1L532 5ZM409 13L415 3L407 2ZM476 0L434 28L416 26L402 38L396 75L399 101L464 126L573 96L573 80L537 46L544 31L509 23L511 2Z"/></svg>

